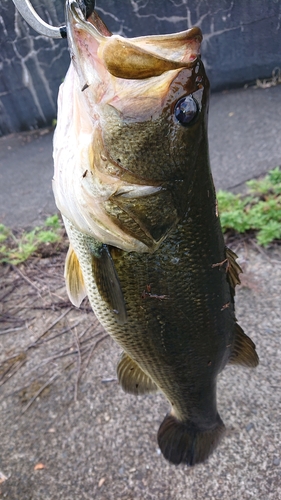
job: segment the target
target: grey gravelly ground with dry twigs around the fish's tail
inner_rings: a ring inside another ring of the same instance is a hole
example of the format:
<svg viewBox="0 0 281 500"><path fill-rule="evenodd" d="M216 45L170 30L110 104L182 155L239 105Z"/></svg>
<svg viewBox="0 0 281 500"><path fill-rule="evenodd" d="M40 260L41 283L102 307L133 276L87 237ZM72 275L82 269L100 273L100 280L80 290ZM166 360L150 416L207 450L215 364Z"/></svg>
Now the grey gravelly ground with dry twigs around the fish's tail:
<svg viewBox="0 0 281 500"><path fill-rule="evenodd" d="M0 498L8 500L275 500L281 496L280 248L241 243L239 323L255 370L226 367L218 409L227 427L208 461L174 467L156 434L169 405L116 381L120 349L85 300L68 301L65 254L2 266Z"/></svg>

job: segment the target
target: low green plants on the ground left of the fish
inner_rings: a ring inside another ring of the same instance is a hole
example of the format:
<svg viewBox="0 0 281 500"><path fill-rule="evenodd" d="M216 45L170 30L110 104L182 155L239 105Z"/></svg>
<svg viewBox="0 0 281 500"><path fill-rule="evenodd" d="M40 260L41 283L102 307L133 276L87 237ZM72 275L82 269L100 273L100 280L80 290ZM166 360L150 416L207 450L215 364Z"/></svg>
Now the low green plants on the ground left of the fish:
<svg viewBox="0 0 281 500"><path fill-rule="evenodd" d="M9 228L0 224L0 263L17 265L27 260L42 245L59 243L62 240L62 225L58 215L45 220L42 227L32 231L14 234Z"/></svg>

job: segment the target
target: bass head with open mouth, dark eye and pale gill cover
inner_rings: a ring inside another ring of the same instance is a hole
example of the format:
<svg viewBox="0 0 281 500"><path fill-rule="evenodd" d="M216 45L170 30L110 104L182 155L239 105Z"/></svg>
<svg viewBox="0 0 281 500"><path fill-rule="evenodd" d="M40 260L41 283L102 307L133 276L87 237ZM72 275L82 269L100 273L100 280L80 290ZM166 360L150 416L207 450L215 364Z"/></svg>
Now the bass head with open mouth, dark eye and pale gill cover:
<svg viewBox="0 0 281 500"><path fill-rule="evenodd" d="M184 216L207 149L209 82L199 28L124 38L67 2L71 64L60 88L53 188L81 232L154 252Z"/></svg>

